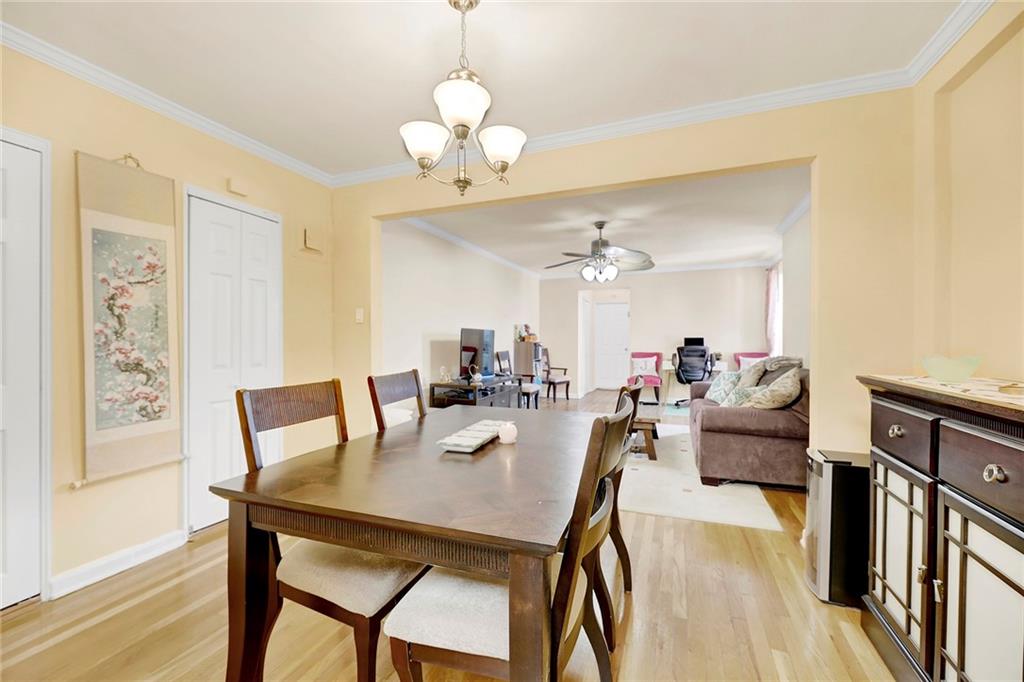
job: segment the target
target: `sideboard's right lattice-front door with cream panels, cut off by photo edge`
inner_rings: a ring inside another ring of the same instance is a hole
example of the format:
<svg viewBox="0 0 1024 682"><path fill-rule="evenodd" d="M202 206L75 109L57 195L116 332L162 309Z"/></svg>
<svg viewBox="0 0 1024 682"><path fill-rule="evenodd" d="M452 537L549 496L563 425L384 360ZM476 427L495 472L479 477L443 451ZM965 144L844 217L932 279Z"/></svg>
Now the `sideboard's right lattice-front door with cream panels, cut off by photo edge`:
<svg viewBox="0 0 1024 682"><path fill-rule="evenodd" d="M939 488L936 677L1024 677L1024 530Z"/></svg>

